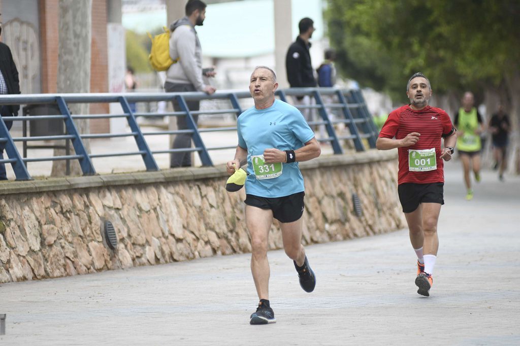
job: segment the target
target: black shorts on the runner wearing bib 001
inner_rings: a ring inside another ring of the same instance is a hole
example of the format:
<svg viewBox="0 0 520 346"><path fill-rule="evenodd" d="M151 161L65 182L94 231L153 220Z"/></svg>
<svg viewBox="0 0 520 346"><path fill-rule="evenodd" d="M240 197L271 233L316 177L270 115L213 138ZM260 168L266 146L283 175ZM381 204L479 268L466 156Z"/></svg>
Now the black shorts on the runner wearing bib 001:
<svg viewBox="0 0 520 346"><path fill-rule="evenodd" d="M421 203L444 204L444 183L404 183L397 187L402 212L412 212Z"/></svg>

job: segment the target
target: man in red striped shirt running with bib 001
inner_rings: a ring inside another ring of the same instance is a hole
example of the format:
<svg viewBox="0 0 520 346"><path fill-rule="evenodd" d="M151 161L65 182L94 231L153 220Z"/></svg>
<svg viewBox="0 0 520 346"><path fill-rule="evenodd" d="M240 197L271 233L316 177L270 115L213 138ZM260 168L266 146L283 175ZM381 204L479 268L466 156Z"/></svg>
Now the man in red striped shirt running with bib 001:
<svg viewBox="0 0 520 346"><path fill-rule="evenodd" d="M437 222L444 204L444 161L450 161L457 142L456 129L448 114L428 105L430 81L421 72L406 86L410 104L388 115L376 148L399 151L397 178L399 200L405 213L410 242L417 254L418 293L430 296L439 238ZM441 148L444 138L444 149Z"/></svg>

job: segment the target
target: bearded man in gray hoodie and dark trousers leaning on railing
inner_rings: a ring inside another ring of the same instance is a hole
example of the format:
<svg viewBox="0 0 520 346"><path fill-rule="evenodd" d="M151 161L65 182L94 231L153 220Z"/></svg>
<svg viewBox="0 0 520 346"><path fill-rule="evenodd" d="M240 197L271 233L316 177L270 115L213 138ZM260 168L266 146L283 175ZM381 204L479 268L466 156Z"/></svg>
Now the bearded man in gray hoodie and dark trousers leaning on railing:
<svg viewBox="0 0 520 346"><path fill-rule="evenodd" d="M195 25L203 25L206 18L206 4L200 0L189 0L186 3L186 16L170 25L170 57L175 62L166 72L164 90L166 92L204 91L213 94L215 88L205 85L202 76L213 77L213 69L202 69L202 48L195 31ZM186 102L190 111L199 110L199 101ZM173 101L176 112L181 111L177 101ZM195 123L199 116L193 114ZM186 117L177 116L177 129L188 129ZM179 134L175 136L173 149L190 148L191 135ZM191 153L172 153L170 167L191 166Z"/></svg>

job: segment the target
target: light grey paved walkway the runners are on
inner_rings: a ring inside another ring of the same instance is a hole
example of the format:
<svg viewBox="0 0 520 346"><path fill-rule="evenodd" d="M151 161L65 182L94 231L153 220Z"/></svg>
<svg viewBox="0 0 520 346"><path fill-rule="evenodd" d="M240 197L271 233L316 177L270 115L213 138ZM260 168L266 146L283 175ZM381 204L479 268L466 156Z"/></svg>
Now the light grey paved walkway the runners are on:
<svg viewBox="0 0 520 346"><path fill-rule="evenodd" d="M305 293L283 251L269 252L277 323L249 325L249 254L0 286L2 345L520 344L520 178L485 171L464 200L448 165L431 296L415 291L406 230L309 246Z"/></svg>

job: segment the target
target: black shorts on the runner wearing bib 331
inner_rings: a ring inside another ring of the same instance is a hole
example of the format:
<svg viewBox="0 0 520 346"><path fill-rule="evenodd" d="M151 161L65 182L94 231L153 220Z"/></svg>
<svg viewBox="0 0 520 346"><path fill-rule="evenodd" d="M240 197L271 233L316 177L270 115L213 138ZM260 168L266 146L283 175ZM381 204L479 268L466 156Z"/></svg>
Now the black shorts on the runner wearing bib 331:
<svg viewBox="0 0 520 346"><path fill-rule="evenodd" d="M294 222L303 215L303 196L305 192L294 193L289 196L267 198L255 195L245 195L244 203L261 209L271 209L272 216L280 222Z"/></svg>

